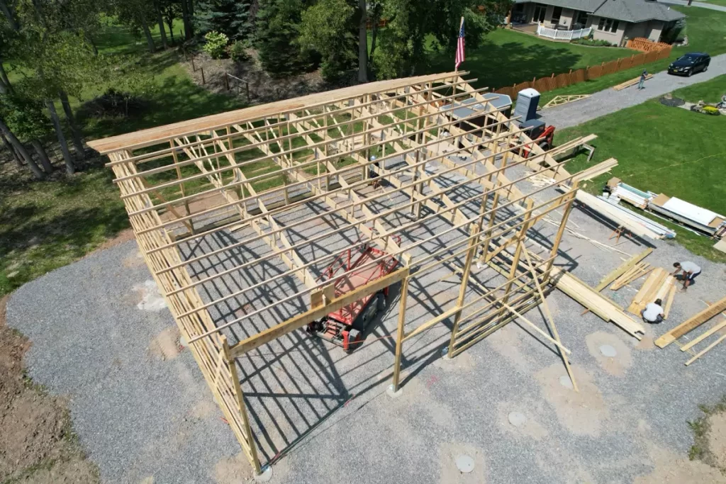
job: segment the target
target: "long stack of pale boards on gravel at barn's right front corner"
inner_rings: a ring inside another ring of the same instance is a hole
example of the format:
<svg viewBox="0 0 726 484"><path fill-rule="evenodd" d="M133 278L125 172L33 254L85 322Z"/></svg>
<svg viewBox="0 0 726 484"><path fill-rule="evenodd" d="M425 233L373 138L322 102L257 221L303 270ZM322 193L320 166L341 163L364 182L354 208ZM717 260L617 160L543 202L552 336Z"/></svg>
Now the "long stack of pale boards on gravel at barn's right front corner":
<svg viewBox="0 0 726 484"><path fill-rule="evenodd" d="M644 332L643 326L633 321L613 301L595 292L592 287L560 268L553 267L551 275L550 282L560 291L584 305L585 308L590 309L596 316L605 321L612 321L629 335L640 340L642 336L639 333Z"/></svg>

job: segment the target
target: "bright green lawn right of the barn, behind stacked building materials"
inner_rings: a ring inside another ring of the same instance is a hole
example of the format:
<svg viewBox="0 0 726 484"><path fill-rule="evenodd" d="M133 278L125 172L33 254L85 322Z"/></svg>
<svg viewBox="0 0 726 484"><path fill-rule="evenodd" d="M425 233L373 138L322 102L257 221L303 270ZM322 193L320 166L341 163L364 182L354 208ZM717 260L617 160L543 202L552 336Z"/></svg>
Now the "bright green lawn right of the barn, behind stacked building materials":
<svg viewBox="0 0 726 484"><path fill-rule="evenodd" d="M674 96L697 102L717 102L724 92L726 75L674 91ZM586 134L597 134L593 162L615 157L618 166L586 187L600 192L605 181L617 176L638 189L678 197L717 213L726 213L726 116L709 116L680 107L666 107L657 99L613 112L581 126L558 131L555 145ZM580 155L573 171L587 167ZM657 219L661 221L660 219ZM693 253L726 262L714 250L714 241L676 229L676 241Z"/></svg>

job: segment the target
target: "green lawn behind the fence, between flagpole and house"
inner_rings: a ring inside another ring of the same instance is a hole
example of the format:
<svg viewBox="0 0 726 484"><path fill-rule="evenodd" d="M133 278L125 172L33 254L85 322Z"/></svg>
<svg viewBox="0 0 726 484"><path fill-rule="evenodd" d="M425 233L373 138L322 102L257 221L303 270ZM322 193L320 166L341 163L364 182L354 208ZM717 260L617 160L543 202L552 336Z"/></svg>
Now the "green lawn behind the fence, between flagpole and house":
<svg viewBox="0 0 726 484"><path fill-rule="evenodd" d="M449 52L437 52L436 43L429 40L431 59L427 73L454 70L454 57ZM514 83L531 81L534 77L561 74L602 62L629 57L637 52L616 47L590 47L552 42L515 30L497 29L489 33L478 49L467 49L462 70L470 72L477 88L492 90Z"/></svg>

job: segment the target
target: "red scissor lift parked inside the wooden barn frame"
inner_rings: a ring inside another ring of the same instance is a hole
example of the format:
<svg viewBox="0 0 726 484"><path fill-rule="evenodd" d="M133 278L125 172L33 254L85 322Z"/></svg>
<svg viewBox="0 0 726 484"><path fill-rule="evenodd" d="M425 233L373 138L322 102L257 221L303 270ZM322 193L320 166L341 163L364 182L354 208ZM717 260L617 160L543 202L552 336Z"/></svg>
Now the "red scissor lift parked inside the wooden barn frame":
<svg viewBox="0 0 726 484"><path fill-rule="evenodd" d="M401 237L396 237L400 243ZM376 261L375 264L366 264ZM362 287L369 282L391 274L398 265L392 255L383 250L364 245L358 249L348 249L338 255L330 266L318 277L318 282L335 279L335 274L352 271L335 282L335 298ZM365 266L365 267L364 267ZM359 269L356 269L359 268ZM388 287L379 292L329 313L318 321L308 324L307 331L325 340L342 346L348 352L363 343L364 332L378 311L386 308Z"/></svg>

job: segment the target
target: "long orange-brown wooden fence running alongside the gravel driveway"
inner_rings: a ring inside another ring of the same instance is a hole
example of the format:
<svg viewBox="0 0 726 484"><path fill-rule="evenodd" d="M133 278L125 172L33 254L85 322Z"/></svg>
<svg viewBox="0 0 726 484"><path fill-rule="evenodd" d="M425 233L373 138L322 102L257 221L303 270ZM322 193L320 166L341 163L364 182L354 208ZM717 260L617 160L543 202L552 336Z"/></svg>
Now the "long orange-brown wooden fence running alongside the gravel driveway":
<svg viewBox="0 0 726 484"><path fill-rule="evenodd" d="M671 54L671 46L667 44L666 46L667 48L661 47L659 50L643 52L643 54L611 60L611 62L603 62L601 65L595 65L593 67L588 66L584 69L570 70L570 72L560 75L552 73L552 75L546 78L534 78L531 81L514 84L510 87L502 87L494 92L497 94L507 94L507 96L515 99L517 93L522 89L534 88L539 92L547 92L570 86L574 83L592 81L592 79L597 79L601 75L612 74L631 67L656 62L656 60L666 59Z"/></svg>

